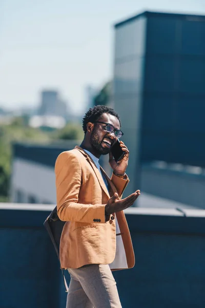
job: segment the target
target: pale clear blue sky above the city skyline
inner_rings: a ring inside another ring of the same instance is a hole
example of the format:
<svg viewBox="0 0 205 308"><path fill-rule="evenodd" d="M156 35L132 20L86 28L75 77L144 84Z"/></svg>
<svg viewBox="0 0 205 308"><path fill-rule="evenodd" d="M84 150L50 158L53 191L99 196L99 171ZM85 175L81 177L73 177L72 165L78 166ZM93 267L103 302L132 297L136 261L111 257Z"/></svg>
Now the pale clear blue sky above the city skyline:
<svg viewBox="0 0 205 308"><path fill-rule="evenodd" d="M205 0L0 0L0 106L56 89L78 113L113 75L113 25L143 11L205 14Z"/></svg>

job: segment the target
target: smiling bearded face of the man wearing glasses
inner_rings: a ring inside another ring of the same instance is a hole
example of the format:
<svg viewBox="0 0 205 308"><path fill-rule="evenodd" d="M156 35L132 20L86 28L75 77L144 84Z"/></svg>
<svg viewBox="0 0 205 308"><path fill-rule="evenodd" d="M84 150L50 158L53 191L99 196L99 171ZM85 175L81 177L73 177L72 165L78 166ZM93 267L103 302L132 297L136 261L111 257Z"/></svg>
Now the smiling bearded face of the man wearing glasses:
<svg viewBox="0 0 205 308"><path fill-rule="evenodd" d="M118 119L109 113L104 113L98 121L112 124L114 128L120 129ZM91 146L99 155L108 154L111 146L117 141L114 132L106 131L105 126L106 124L95 123L90 135Z"/></svg>

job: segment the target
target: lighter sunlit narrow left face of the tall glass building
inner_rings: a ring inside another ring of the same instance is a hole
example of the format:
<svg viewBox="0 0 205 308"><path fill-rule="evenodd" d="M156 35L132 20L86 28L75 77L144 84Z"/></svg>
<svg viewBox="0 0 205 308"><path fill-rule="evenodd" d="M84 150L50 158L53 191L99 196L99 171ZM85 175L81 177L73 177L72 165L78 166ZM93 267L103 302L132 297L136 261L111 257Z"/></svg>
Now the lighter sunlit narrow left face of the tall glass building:
<svg viewBox="0 0 205 308"><path fill-rule="evenodd" d="M128 174L136 190L140 142L140 109L145 63L146 18L116 27L114 63L114 108L119 113L124 136L122 140L130 150ZM128 185L126 195L133 192Z"/></svg>

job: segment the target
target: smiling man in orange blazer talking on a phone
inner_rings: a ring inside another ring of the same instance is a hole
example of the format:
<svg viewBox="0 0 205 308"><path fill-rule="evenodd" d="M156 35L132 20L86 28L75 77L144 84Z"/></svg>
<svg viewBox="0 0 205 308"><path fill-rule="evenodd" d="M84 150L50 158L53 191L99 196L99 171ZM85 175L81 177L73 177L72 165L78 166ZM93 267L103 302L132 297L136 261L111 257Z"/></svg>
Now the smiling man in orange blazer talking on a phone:
<svg viewBox="0 0 205 308"><path fill-rule="evenodd" d="M121 307L111 270L134 266L134 253L123 210L140 191L121 199L129 179L129 150L115 162L112 146L122 136L119 115L106 106L90 108L83 119L80 147L60 153L55 164L57 214L66 221L60 238L60 266L71 281L67 308ZM99 166L109 153L111 179Z"/></svg>

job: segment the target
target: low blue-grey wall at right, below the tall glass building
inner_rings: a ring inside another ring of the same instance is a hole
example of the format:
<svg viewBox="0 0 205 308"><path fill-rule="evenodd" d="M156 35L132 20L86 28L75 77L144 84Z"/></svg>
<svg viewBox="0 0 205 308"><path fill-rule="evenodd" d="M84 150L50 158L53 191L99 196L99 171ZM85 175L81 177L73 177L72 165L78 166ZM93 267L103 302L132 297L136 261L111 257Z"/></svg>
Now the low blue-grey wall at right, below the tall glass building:
<svg viewBox="0 0 205 308"><path fill-rule="evenodd" d="M177 167L179 170L177 170ZM141 191L205 209L205 172L202 168L172 165L141 166Z"/></svg>

